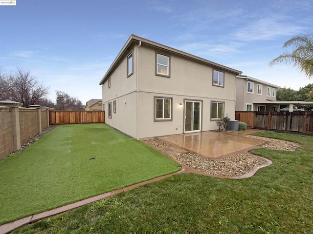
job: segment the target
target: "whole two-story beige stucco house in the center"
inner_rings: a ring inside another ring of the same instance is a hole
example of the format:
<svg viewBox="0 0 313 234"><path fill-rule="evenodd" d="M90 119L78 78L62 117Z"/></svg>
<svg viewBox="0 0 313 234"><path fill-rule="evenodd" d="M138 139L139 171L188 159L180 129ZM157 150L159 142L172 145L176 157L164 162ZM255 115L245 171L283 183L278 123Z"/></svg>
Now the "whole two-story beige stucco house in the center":
<svg viewBox="0 0 313 234"><path fill-rule="evenodd" d="M241 72L131 35L100 81L106 123L134 138L217 129L235 118Z"/></svg>

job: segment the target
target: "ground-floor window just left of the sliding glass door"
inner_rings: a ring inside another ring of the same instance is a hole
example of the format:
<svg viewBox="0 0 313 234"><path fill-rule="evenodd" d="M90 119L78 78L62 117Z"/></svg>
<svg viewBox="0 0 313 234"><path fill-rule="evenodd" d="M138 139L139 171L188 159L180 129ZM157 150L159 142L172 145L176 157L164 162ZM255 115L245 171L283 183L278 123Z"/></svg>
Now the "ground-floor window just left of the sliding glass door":
<svg viewBox="0 0 313 234"><path fill-rule="evenodd" d="M172 98L155 97L155 121L172 120Z"/></svg>

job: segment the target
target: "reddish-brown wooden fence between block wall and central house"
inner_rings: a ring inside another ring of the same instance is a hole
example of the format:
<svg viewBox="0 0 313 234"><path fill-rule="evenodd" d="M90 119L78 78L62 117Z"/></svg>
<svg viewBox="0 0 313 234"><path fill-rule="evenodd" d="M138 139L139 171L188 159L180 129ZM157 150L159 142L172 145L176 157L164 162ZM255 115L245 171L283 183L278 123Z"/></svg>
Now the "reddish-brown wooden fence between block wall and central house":
<svg viewBox="0 0 313 234"><path fill-rule="evenodd" d="M104 111L49 111L50 124L104 123Z"/></svg>

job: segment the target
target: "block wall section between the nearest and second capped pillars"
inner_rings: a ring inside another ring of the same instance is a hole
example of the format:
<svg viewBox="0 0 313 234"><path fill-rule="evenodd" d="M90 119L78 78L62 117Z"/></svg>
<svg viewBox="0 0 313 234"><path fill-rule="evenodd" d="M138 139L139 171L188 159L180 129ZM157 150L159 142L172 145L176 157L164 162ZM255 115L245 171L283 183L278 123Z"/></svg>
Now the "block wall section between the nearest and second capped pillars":
<svg viewBox="0 0 313 234"><path fill-rule="evenodd" d="M20 108L21 144L38 133L37 109Z"/></svg>

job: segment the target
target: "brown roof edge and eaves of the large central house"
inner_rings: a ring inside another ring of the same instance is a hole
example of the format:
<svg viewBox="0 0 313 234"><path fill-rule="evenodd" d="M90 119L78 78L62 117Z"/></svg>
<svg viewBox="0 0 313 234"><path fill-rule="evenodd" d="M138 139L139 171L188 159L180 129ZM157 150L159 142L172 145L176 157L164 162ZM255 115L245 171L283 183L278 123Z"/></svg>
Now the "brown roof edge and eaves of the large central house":
<svg viewBox="0 0 313 234"><path fill-rule="evenodd" d="M180 56L183 56L183 57L186 57L186 58L189 58L189 59L194 59L194 60L197 60L197 61L201 61L203 63L206 63L206 64L209 64L211 66L214 66L214 67L217 67L217 68L220 68L220 69L224 69L225 71L228 71L228 72L231 72L231 73L235 73L237 75L240 75L242 74L241 71L238 71L238 70L235 70L233 68L230 68L230 67L226 67L224 65L221 65L221 64L218 64L218 63L215 63L215 62L212 62L210 60L207 60L207 59L202 59L198 56L195 56L195 55L192 55L192 54L189 54L189 53L186 53L186 52L183 52L183 51L180 51L180 50L177 50L177 49L174 49L172 47L169 47L169 46L166 46L166 45L162 45L162 44L159 44L157 42L154 42L152 40L148 40L148 39L144 39L144 38L141 38L141 37L138 37L134 34L132 34L130 36L130 38L126 41L125 45L123 46L123 48L121 49L121 51L118 53L118 55L116 56L116 58L114 59L112 65L110 66L110 68L108 69L107 73L104 75L104 77L101 79L100 81L100 85L103 84L105 82L105 80L109 77L109 75L111 74L111 72L113 71L113 69L115 68L115 66L118 64L119 60L123 57L124 53L126 53L126 51L128 50L128 48L130 47L130 45L133 43L133 42L137 42L137 43L140 43L141 44L146 44L146 45L149 45L149 46L153 46L153 47L156 47L156 48L161 48L163 50L166 50L166 51L169 51L171 53L174 53L174 54L178 54Z"/></svg>

